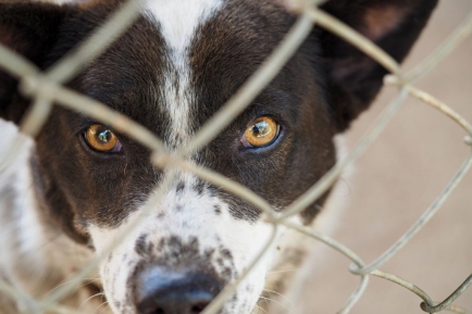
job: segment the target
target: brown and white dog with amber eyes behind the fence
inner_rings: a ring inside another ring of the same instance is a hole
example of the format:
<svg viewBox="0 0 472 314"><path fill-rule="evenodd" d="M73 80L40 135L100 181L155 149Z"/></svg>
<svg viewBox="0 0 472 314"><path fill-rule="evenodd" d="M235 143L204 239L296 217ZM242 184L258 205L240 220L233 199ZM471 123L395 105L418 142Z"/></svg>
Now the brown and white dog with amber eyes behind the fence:
<svg viewBox="0 0 472 314"><path fill-rule="evenodd" d="M2 1L0 42L46 70L122 2ZM401 61L436 2L330 0L321 8ZM66 86L133 118L175 151L263 63L296 18L276 0L149 0L137 21ZM284 211L335 164L334 137L369 108L386 73L315 27L248 109L190 161ZM17 87L0 70L0 116L9 121L1 125L3 148L22 137L13 124L29 105ZM40 300L107 252L169 171L154 168L144 146L60 105L26 142L14 166L0 174L0 278ZM313 225L328 201L326 192L295 219ZM151 205L151 215L105 254L97 278L85 279L63 304L77 313L201 313L271 234L253 205L185 172ZM288 236L281 236L219 313L251 313L270 269L300 265L307 248ZM286 278L271 281L289 285ZM101 294L107 305L94 298ZM0 302L2 314L22 310L7 294Z"/></svg>

